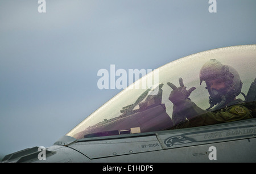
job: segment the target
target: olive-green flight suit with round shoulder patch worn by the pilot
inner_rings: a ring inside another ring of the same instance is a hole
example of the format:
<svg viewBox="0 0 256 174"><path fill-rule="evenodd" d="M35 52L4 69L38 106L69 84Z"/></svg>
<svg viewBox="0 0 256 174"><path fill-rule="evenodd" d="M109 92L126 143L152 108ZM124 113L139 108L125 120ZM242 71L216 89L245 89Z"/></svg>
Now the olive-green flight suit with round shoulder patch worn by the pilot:
<svg viewBox="0 0 256 174"><path fill-rule="evenodd" d="M253 118L251 109L247 108L246 104L241 99L234 100L226 105L225 108L213 112L207 112L199 108L188 99L184 101L182 108L180 108L180 106L175 107L176 106L174 106L172 114L172 120L175 124L174 129ZM255 102L253 107L255 107Z"/></svg>

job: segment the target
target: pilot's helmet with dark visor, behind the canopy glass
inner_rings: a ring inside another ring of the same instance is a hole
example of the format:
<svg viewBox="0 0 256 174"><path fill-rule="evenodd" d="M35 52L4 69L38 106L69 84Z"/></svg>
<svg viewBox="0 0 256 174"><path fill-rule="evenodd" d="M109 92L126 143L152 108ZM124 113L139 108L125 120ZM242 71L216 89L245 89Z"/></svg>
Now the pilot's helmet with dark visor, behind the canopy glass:
<svg viewBox="0 0 256 174"><path fill-rule="evenodd" d="M210 90L208 81L213 79L222 79L225 82L225 94L221 92L214 92ZM220 61L212 59L206 62L200 70L200 84L205 81L207 90L210 94L210 102L212 104L218 104L221 101L221 96L225 95L226 99L233 100L234 97L238 96L241 92L242 82L240 75L237 71L229 65L222 65Z"/></svg>

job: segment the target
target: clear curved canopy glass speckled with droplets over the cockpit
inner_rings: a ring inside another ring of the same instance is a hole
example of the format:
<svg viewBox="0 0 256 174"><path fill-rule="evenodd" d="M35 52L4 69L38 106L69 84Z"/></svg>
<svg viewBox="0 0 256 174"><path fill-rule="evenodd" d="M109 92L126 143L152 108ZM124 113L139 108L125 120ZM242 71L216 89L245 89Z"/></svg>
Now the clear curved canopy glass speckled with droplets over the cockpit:
<svg viewBox="0 0 256 174"><path fill-rule="evenodd" d="M243 83L241 92L247 94L256 78L256 45L208 50L180 58L148 73L66 135L81 139L171 129L174 126L173 104L168 98L172 88L167 83L179 87L179 78L182 78L187 89L196 87L189 98L198 107L209 108L209 93L205 82L200 85L199 73L204 63L211 59L234 67ZM244 100L241 94L237 98Z"/></svg>

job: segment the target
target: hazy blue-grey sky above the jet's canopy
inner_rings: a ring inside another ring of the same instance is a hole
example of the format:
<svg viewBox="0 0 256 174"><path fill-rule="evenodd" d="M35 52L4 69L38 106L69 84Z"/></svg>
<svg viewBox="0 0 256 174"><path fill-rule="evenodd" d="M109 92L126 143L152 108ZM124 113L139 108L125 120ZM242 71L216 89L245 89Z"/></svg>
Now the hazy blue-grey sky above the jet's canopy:
<svg viewBox="0 0 256 174"><path fill-rule="evenodd" d="M97 71L156 69L204 50L256 44L256 1L0 1L0 158L51 146L121 90Z"/></svg>

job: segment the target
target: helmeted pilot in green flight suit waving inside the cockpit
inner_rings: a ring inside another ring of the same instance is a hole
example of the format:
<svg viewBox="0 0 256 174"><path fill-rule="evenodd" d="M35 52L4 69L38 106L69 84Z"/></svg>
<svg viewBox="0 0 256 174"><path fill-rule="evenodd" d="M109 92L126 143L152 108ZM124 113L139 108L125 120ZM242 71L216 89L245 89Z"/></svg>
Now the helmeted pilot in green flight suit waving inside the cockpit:
<svg viewBox="0 0 256 174"><path fill-rule="evenodd" d="M200 84L203 81L210 95L210 107L206 110L201 109L189 99L195 87L187 90L181 78L179 79L180 87L168 83L173 89L169 96L169 100L174 104L173 129L212 125L253 117L251 110L245 106L245 102L236 99L241 92L242 82L233 67L222 65L215 59L210 60L201 67Z"/></svg>

